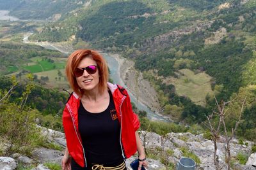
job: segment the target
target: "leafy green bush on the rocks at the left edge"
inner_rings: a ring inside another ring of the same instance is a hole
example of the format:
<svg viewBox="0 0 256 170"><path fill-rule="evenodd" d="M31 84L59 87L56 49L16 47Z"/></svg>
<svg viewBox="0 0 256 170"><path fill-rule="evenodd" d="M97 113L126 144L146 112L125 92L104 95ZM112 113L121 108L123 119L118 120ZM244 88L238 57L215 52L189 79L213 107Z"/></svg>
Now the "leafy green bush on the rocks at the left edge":
<svg viewBox="0 0 256 170"><path fill-rule="evenodd" d="M0 139L6 143L1 155L22 153L31 155L36 146L44 141L40 129L33 122L35 110L22 110L13 103L0 104Z"/></svg>

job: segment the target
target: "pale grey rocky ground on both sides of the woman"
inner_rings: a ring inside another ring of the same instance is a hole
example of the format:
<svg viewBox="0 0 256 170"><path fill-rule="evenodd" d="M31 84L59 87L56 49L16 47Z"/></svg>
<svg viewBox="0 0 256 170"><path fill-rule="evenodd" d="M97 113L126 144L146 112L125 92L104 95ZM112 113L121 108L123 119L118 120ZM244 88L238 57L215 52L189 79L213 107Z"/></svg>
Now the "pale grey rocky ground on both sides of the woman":
<svg viewBox="0 0 256 170"><path fill-rule="evenodd" d="M47 136L48 140L63 147L63 151L53 150L49 148L37 148L33 152L31 158L24 155L13 154L10 157L0 157L0 169L16 169L18 162L22 162L24 165L38 164L34 169L47 169L43 166L45 162L55 162L61 164L61 159L65 150L65 135L61 132L52 131L51 129L42 128L43 134ZM203 137L203 134L194 135L187 133L169 133L166 136L160 136L153 132L140 132L141 140L145 144L145 150L148 155L160 153L168 153L164 159L168 162L172 162L173 165L177 164L180 158L184 157L184 148L198 157L200 164L197 164L197 169L215 169L213 161L214 145L212 141ZM233 139L231 142L231 155L233 158L237 157L237 154L243 153L244 155L250 155L246 165L239 164L238 160L234 159L233 169L256 169L256 153L252 153L252 146L254 143L250 141L245 142L246 145L238 143L237 139ZM245 144L244 143L244 144ZM170 152L172 151L172 152ZM150 154L151 153L151 154ZM225 167L225 143L224 139L220 138L218 142L218 158L221 164ZM127 167L136 157L127 159ZM198 161L196 160L196 161ZM160 160L150 159L148 157L148 169L165 169L164 164ZM175 168L175 167L173 167ZM225 169L225 168L224 168Z"/></svg>

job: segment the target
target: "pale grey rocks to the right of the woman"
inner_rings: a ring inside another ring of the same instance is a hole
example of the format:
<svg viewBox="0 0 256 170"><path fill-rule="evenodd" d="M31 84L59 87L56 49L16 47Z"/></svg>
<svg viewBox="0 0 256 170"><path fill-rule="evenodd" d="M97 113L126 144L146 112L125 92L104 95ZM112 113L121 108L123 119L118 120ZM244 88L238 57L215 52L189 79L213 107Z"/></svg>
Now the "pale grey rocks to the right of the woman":
<svg viewBox="0 0 256 170"><path fill-rule="evenodd" d="M168 160L170 160L174 165L181 157L184 157L181 148L186 148L186 150L194 153L200 159L201 163L197 165L198 168L215 169L213 160L214 144L212 141L204 139L203 134L193 135L189 132L170 133L167 134L166 137L161 138L161 136L153 132L142 131L140 136L141 139L145 141L146 150L150 150L152 148L164 148L164 150L173 150L173 154L168 158ZM248 146L240 145L236 139L233 139L230 143L231 156L236 157L237 153L244 153L246 155L250 154L253 143L250 141L246 141L246 143L248 143ZM217 155L219 162L222 166L225 167L225 139L221 137L217 145ZM238 162L234 163L236 169L253 168L253 165L256 163L254 154L255 153L251 155L252 160L249 159L250 163L246 164L246 166L241 165Z"/></svg>

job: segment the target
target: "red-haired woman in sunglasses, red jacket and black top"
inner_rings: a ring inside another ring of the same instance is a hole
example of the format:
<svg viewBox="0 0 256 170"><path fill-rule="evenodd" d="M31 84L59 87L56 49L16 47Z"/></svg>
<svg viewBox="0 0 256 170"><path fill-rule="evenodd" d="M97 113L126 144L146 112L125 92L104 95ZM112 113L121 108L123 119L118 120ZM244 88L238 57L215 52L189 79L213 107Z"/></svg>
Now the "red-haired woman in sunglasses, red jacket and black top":
<svg viewBox="0 0 256 170"><path fill-rule="evenodd" d="M74 92L63 111L67 148L62 169L126 169L136 150L139 170L147 166L138 135L140 122L127 91L108 83L108 66L93 50L77 50L67 61L66 75Z"/></svg>

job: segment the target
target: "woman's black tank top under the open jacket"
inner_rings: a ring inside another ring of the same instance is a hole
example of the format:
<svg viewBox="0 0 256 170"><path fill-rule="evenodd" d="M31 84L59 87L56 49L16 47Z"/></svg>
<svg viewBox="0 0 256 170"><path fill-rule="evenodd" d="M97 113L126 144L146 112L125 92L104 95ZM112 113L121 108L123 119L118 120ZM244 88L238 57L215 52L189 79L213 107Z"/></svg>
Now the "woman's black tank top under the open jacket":
<svg viewBox="0 0 256 170"><path fill-rule="evenodd" d="M78 127L88 167L93 164L118 166L124 159L120 146L120 123L111 92L109 106L101 113L90 113L80 103Z"/></svg>

